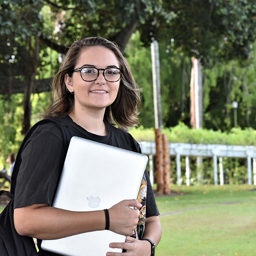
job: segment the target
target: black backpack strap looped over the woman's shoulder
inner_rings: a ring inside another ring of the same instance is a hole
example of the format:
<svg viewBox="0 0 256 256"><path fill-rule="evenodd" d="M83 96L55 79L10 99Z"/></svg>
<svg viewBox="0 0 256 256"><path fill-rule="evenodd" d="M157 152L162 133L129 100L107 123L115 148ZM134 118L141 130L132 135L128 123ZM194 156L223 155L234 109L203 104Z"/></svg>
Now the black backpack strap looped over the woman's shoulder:
<svg viewBox="0 0 256 256"><path fill-rule="evenodd" d="M24 148L26 142L28 141L28 139L32 135L33 131L38 126L44 125L44 124L47 124L47 123L50 123L50 122L56 123L61 128L62 133L63 133L64 150L65 150L65 153L67 152L67 149L68 149L68 146L69 146L69 142L70 142L70 139L71 139L71 134L70 134L68 128L64 125L64 123L59 118L44 119L44 120L41 120L41 121L37 122L34 126L32 126L32 128L26 134L26 136L25 136L25 138L24 138L24 140L23 140L23 142L22 142L22 144L20 146L18 154L16 156L16 160L15 160L15 164L14 164L13 171L12 171L12 176L11 176L11 189L10 189L10 193L12 195L14 195L14 193L15 193L17 176L18 176L20 165L21 165L21 153L23 151L23 148Z"/></svg>

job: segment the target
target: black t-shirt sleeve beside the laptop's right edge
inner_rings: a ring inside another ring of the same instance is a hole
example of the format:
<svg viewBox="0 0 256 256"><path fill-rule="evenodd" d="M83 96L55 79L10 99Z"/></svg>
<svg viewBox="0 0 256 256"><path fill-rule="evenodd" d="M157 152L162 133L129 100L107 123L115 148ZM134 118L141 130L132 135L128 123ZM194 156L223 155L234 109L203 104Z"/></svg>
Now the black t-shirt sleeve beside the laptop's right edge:
<svg viewBox="0 0 256 256"><path fill-rule="evenodd" d="M141 148L139 143L136 141L136 147L138 150L138 153L142 153L141 152ZM146 176L146 180L147 180L147 201L146 201L146 218L151 217L151 216L158 216L160 215L159 210L158 210L158 206L156 203L156 199L155 199L155 195L152 189L152 185L150 182L150 178L149 178L149 174L148 174L148 170L145 170L145 176Z"/></svg>

